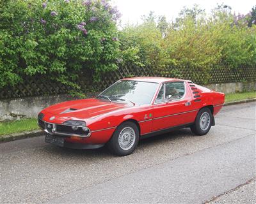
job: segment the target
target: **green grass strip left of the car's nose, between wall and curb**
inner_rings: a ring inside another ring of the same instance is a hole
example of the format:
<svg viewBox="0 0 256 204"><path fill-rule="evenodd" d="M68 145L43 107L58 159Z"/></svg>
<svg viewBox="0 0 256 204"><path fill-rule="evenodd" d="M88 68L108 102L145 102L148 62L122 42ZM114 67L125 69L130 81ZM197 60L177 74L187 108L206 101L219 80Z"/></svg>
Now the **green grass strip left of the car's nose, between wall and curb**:
<svg viewBox="0 0 256 204"><path fill-rule="evenodd" d="M8 122L0 122L0 135L9 135L39 129L36 119L21 119Z"/></svg>

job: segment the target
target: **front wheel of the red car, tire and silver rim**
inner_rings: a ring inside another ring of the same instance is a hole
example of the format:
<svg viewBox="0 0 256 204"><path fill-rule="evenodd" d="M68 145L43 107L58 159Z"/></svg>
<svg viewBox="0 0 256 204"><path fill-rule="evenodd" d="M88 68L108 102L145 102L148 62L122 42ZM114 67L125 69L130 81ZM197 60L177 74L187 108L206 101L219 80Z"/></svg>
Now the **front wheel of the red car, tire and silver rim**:
<svg viewBox="0 0 256 204"><path fill-rule="evenodd" d="M117 156L132 154L140 138L139 129L134 122L123 122L109 140L108 149Z"/></svg>

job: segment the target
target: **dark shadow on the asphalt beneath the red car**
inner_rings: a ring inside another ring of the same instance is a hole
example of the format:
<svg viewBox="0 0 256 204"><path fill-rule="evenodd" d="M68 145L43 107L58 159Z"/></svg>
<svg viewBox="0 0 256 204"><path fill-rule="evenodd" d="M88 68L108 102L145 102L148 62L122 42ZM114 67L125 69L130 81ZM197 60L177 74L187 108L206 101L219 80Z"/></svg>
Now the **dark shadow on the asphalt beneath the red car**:
<svg viewBox="0 0 256 204"><path fill-rule="evenodd" d="M156 145L161 145L166 142L172 143L175 140L180 138L186 138L195 136L191 133L189 128L179 129L176 131L172 131L170 133L164 133L162 135L152 136L150 138L143 138L140 140L137 149L150 149L154 148ZM55 154L58 156L63 157L86 157L88 158L108 158L108 157L116 157L111 152L109 152L106 145L99 149L69 149L63 147L56 147L54 145L47 145L44 147L44 152L48 153L49 155Z"/></svg>

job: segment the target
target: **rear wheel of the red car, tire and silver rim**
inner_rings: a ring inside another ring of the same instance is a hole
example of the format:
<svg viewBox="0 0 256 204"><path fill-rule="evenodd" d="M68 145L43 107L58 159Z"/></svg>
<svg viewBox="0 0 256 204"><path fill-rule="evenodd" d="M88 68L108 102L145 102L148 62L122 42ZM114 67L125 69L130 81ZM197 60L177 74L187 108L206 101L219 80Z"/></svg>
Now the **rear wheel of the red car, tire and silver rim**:
<svg viewBox="0 0 256 204"><path fill-rule="evenodd" d="M206 135L212 126L212 112L209 108L202 108L196 115L195 124L191 126L191 131L195 135Z"/></svg>

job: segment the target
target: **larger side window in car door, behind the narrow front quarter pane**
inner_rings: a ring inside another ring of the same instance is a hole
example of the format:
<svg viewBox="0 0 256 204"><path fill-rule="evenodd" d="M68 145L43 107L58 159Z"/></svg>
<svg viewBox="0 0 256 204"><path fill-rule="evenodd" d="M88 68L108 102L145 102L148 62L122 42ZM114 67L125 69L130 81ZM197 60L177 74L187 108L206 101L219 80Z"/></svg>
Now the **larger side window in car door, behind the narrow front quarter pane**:
<svg viewBox="0 0 256 204"><path fill-rule="evenodd" d="M184 82L171 82L165 84L165 98L172 100L180 99L185 94Z"/></svg>

